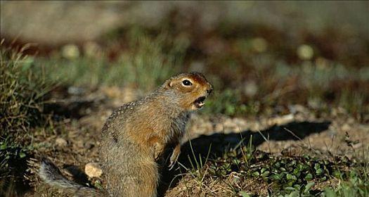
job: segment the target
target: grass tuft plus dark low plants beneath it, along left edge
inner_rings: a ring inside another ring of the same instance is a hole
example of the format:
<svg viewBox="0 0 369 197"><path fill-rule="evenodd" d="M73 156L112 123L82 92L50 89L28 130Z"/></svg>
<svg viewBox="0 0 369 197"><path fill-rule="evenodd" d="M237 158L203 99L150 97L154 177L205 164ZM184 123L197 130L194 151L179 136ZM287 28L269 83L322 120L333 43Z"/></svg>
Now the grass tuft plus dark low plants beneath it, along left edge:
<svg viewBox="0 0 369 197"><path fill-rule="evenodd" d="M41 73L32 72L32 61L23 55L27 46L7 48L1 41L1 94L0 94L0 191L8 196L21 191L26 160L34 150L32 128L45 126L48 116L44 113L46 94L53 87L46 83ZM13 191L12 187L18 188ZM14 193L13 193L14 192Z"/></svg>

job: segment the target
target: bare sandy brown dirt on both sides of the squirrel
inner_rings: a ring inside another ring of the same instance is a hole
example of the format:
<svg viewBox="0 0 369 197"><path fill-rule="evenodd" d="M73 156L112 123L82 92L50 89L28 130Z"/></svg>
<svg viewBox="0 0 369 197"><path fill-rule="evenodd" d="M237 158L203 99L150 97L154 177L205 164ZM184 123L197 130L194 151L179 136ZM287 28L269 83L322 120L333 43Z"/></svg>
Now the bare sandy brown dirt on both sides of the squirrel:
<svg viewBox="0 0 369 197"><path fill-rule="evenodd" d="M103 177L87 177L84 174L84 165L98 163L98 141L101 127L108 115L118 106L138 96L131 89L116 87L103 87L83 94L54 91L50 108L69 118L55 127L52 134L40 130L34 135L34 144L39 144L39 148L37 155L28 161L32 168L30 175L26 177L31 186L34 186L34 191L27 192L25 196L65 196L63 191L51 189L40 182L37 168L41 157L50 158L63 173L80 184L101 185ZM195 153L202 155L207 153L210 146L212 154L222 153L242 139L249 141L250 136L257 149L275 154L312 151L323 157L330 154L354 157L368 148L369 125L356 122L342 109L332 109L330 114L321 117L312 114L311 110L298 105L290 106L290 114L274 117L232 118L224 115L209 117L193 114L179 162L186 163L188 160L188 139L191 139ZM179 170L171 172L168 177L163 177L163 182L170 184L171 179L179 174ZM179 177L179 182L171 184L167 191L164 189L165 196L202 196L201 191L196 190L196 185L191 186L191 182L188 182L188 176ZM246 180L245 184L252 182L248 183ZM219 183L217 187L224 188L221 185Z"/></svg>

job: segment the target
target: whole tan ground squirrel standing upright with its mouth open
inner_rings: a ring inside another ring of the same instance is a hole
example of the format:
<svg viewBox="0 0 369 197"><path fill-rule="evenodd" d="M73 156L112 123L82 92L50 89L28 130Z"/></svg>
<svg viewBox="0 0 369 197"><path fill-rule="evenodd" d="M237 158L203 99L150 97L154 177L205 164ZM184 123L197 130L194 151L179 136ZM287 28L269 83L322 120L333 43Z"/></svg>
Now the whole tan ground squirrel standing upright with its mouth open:
<svg viewBox="0 0 369 197"><path fill-rule="evenodd" d="M41 163L41 179L71 189L77 196L156 196L158 160L174 147L169 164L173 167L189 114L202 108L211 91L212 84L201 73L183 73L145 98L115 110L103 126L100 145L106 191L71 182L48 160Z"/></svg>

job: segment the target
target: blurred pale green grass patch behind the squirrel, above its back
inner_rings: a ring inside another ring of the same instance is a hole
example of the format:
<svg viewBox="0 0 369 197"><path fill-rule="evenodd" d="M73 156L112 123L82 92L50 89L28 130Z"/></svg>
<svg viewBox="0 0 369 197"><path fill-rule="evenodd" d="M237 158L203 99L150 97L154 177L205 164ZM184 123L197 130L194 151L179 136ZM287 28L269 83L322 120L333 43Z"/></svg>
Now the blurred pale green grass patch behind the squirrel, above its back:
<svg viewBox="0 0 369 197"><path fill-rule="evenodd" d="M168 77L181 72L186 41L150 37L140 30L129 33L129 51L120 51L115 61L108 54L96 57L41 59L48 78L67 86L130 86L142 91L155 89Z"/></svg>

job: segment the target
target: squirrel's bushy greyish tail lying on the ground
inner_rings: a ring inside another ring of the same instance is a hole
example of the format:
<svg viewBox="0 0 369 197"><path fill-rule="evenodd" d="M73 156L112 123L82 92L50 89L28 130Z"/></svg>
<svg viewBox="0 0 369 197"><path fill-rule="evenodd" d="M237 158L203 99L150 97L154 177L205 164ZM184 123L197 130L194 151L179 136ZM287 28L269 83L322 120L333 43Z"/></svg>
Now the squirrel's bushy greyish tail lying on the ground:
<svg viewBox="0 0 369 197"><path fill-rule="evenodd" d="M42 159L39 176L51 186L58 186L71 191L75 196L101 196L103 193L96 189L82 186L65 178L56 165L50 160Z"/></svg>

